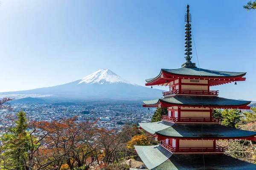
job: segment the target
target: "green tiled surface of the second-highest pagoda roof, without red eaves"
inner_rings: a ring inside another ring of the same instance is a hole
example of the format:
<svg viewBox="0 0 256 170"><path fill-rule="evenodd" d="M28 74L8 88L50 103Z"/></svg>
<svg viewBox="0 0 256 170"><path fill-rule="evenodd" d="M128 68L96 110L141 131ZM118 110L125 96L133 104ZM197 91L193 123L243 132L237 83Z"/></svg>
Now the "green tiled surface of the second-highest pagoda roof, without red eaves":
<svg viewBox="0 0 256 170"><path fill-rule="evenodd" d="M177 105L204 105L204 106L240 106L249 105L251 101L225 99L222 97L206 96L172 96L143 101L145 105L158 105L160 102Z"/></svg>

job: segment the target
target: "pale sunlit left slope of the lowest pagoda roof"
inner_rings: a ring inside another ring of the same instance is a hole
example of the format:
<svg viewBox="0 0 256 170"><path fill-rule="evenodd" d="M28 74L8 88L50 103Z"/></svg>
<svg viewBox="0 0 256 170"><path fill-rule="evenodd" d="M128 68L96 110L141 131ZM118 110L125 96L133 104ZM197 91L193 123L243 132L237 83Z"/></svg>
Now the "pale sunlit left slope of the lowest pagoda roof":
<svg viewBox="0 0 256 170"><path fill-rule="evenodd" d="M159 166L172 156L172 153L159 145L134 147L148 169Z"/></svg>

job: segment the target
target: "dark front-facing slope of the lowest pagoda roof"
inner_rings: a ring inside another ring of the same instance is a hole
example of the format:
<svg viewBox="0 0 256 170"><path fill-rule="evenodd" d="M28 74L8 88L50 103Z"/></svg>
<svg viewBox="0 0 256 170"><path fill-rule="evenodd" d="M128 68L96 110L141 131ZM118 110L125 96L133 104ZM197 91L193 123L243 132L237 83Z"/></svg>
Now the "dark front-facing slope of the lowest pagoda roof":
<svg viewBox="0 0 256 170"><path fill-rule="evenodd" d="M144 162L145 163L145 162ZM145 164L147 165L147 164ZM256 164L224 154L173 155L152 170L256 170Z"/></svg>

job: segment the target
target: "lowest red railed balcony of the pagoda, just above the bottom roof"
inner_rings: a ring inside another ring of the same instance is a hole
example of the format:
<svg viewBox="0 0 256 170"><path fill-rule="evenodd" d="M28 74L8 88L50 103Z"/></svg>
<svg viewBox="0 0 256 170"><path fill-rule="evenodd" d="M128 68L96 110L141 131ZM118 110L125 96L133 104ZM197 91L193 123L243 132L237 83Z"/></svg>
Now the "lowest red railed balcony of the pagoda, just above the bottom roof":
<svg viewBox="0 0 256 170"><path fill-rule="evenodd" d="M224 147L172 147L165 141L160 141L160 145L173 154L178 153L224 153Z"/></svg>

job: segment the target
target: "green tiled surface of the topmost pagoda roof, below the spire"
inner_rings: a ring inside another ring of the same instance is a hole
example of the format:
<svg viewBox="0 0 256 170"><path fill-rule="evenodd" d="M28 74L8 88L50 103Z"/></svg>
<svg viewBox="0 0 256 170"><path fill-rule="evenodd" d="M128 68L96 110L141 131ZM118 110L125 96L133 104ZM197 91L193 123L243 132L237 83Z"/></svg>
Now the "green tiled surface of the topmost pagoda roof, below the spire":
<svg viewBox="0 0 256 170"><path fill-rule="evenodd" d="M246 72L230 72L230 71L215 71L215 70L207 70L203 68L194 68L194 67L183 67L177 69L164 69L162 68L159 77L162 72L172 74L172 75L180 75L180 76L193 76L193 77L243 77ZM146 79L146 82L151 82L157 77Z"/></svg>

